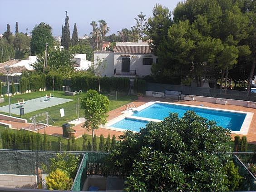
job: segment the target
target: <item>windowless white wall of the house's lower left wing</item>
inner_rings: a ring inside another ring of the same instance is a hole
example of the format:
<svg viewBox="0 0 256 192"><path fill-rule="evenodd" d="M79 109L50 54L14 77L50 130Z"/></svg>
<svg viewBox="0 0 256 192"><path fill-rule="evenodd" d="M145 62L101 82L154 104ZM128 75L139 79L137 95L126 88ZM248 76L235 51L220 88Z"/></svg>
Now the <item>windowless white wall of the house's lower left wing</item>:
<svg viewBox="0 0 256 192"><path fill-rule="evenodd" d="M114 52L113 51L94 51L94 64L98 61L106 62L102 76L112 77L114 74Z"/></svg>

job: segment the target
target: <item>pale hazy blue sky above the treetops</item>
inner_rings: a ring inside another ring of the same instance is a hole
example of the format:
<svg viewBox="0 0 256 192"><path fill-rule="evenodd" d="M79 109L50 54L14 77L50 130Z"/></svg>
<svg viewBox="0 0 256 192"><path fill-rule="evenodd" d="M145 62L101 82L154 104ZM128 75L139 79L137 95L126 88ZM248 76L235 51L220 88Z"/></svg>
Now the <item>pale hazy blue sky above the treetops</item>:
<svg viewBox="0 0 256 192"><path fill-rule="evenodd" d="M74 23L78 35L89 35L91 21L105 20L110 27L107 35L136 24L134 18L140 12L148 18L152 16L154 5L161 4L172 12L180 0L0 0L0 33L6 25L15 33L18 21L19 32L30 33L35 25L45 22L52 26L54 36L61 36L61 28L68 11L69 30L72 35ZM4 5L4 6L3 6Z"/></svg>

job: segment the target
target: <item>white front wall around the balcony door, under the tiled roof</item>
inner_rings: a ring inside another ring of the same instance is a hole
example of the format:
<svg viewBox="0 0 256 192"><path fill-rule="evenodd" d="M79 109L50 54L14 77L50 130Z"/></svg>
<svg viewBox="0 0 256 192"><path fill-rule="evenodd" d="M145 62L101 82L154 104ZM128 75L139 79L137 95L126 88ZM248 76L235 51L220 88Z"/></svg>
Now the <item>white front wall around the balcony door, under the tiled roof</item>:
<svg viewBox="0 0 256 192"><path fill-rule="evenodd" d="M117 70L122 69L122 54L115 54L114 56L114 68ZM139 77L144 77L149 74L151 74L151 67L152 65L143 65L143 58L153 58L153 63L156 63L157 57L154 56L153 54L152 57L145 57L145 55L149 54L129 54L130 56L130 70L135 70L138 74Z"/></svg>

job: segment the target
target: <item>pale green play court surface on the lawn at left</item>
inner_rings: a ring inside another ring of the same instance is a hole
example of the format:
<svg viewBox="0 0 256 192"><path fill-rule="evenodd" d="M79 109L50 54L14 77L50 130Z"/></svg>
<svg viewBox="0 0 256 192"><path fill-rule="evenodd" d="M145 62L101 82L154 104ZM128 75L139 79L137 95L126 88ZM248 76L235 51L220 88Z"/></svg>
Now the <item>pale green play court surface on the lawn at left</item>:
<svg viewBox="0 0 256 192"><path fill-rule="evenodd" d="M68 98L58 98L58 97L51 97L51 98L34 98L30 100L25 100L25 104L23 105L24 112L30 113L33 111L37 111L39 109L49 108L55 105L67 103L69 101L73 101L72 99ZM20 101L21 102L21 101ZM20 114L20 106L17 103L13 103L10 105L10 110L12 114L19 115ZM9 105L5 105L0 107L0 112L9 113Z"/></svg>

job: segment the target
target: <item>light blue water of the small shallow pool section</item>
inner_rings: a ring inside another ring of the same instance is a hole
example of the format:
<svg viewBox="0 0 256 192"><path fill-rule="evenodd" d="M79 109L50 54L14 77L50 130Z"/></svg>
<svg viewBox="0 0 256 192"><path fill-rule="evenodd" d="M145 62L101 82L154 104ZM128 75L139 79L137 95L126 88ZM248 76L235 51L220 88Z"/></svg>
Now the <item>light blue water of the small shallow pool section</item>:
<svg viewBox="0 0 256 192"><path fill-rule="evenodd" d="M137 120L137 119L132 119L132 118L124 118L121 121L118 121L117 123L110 125L110 127L129 129L132 131L139 132L140 128L145 127L147 123L148 123L148 121Z"/></svg>

